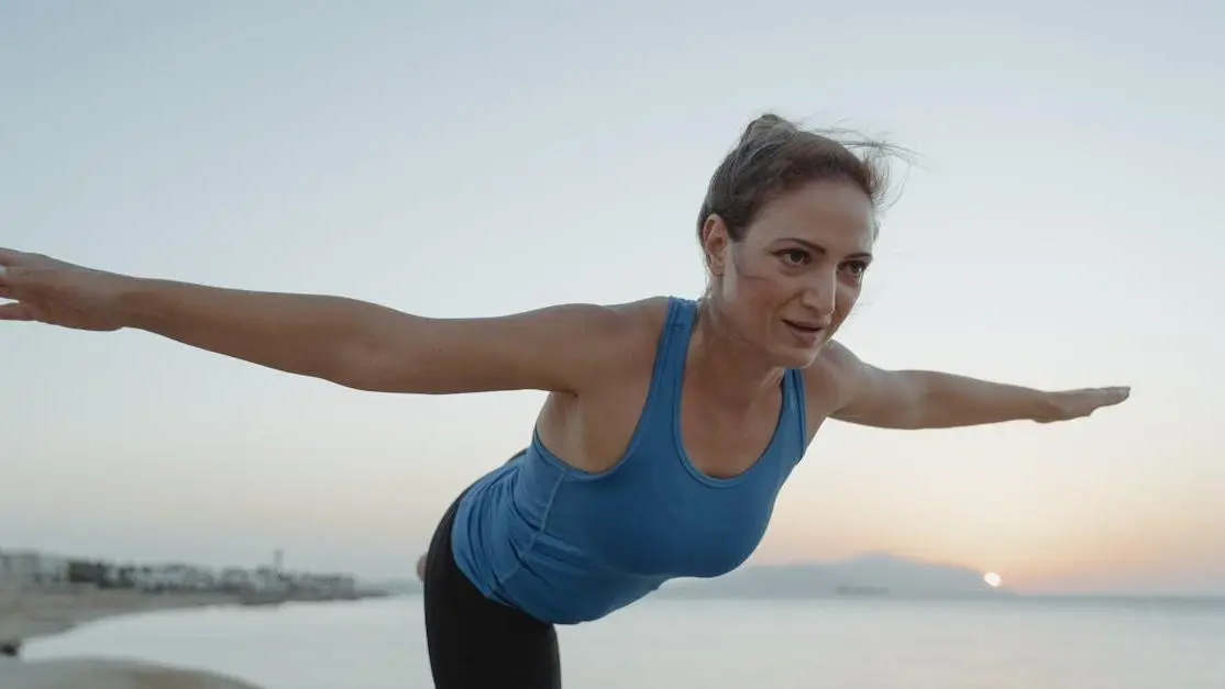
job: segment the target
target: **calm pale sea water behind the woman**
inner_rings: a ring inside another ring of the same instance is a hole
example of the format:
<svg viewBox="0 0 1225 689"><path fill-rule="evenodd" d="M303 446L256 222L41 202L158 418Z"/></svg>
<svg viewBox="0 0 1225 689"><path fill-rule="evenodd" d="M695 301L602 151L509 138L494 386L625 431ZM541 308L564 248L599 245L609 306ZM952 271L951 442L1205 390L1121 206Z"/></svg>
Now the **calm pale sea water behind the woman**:
<svg viewBox="0 0 1225 689"><path fill-rule="evenodd" d="M267 689L429 688L420 598L120 618L32 644ZM654 600L561 630L566 687L1223 689L1225 606Z"/></svg>

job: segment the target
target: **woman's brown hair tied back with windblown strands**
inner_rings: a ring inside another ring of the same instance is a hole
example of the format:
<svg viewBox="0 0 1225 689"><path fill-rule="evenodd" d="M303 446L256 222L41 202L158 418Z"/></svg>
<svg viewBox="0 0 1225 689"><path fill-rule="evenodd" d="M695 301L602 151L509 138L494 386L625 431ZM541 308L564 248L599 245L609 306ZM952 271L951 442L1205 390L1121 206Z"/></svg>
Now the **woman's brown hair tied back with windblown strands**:
<svg viewBox="0 0 1225 689"><path fill-rule="evenodd" d="M888 187L888 158L898 153L898 147L854 132L802 130L767 113L745 127L714 170L697 218L698 240L707 218L718 214L731 240L740 241L767 203L815 181L854 184L880 208Z"/></svg>

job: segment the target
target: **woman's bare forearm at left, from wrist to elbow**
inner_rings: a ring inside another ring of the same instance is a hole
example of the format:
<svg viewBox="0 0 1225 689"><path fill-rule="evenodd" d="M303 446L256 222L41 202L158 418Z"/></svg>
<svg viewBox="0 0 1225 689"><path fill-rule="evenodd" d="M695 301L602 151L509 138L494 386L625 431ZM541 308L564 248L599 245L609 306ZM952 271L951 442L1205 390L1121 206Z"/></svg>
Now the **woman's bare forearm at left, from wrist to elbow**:
<svg viewBox="0 0 1225 689"><path fill-rule="evenodd" d="M404 315L339 296L134 278L124 324L270 368L355 387L363 345Z"/></svg>

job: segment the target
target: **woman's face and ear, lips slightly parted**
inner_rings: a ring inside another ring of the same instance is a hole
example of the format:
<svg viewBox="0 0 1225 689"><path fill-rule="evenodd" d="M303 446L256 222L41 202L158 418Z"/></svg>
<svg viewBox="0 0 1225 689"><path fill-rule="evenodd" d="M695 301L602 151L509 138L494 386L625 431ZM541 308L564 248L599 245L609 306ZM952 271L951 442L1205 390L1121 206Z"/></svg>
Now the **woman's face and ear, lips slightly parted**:
<svg viewBox="0 0 1225 689"><path fill-rule="evenodd" d="M723 319L773 365L802 368L859 299L875 214L859 187L820 181L766 204L739 242L717 215L702 237Z"/></svg>

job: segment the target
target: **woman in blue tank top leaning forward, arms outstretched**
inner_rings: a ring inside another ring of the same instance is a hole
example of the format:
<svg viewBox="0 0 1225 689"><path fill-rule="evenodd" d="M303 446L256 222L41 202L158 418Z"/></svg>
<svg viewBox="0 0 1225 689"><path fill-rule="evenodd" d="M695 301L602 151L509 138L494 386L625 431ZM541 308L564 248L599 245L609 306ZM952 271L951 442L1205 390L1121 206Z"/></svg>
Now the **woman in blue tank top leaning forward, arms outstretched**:
<svg viewBox="0 0 1225 689"><path fill-rule="evenodd" d="M0 251L0 296L12 300L0 317L143 329L363 390L548 392L530 447L441 520L425 618L440 689L560 687L554 625L739 567L826 419L1050 422L1127 398L883 371L835 343L877 235L886 149L867 151L773 115L750 124L698 215L709 281L697 301L439 319Z"/></svg>

